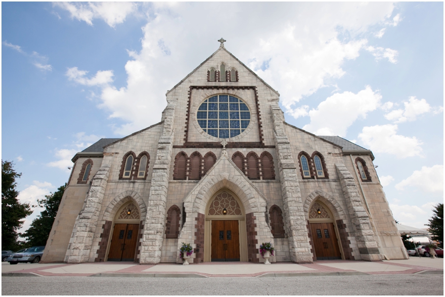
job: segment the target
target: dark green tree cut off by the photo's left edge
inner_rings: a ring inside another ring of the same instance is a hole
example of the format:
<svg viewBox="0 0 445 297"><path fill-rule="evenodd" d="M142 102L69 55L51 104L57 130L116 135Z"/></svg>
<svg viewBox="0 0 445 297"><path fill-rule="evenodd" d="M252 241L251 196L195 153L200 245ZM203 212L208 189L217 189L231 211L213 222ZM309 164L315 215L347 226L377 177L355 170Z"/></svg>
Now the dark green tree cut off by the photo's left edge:
<svg viewBox="0 0 445 297"><path fill-rule="evenodd" d="M33 211L29 203L20 203L17 199L16 179L21 173L15 172L14 163L1 160L1 249L17 250L18 229L23 220Z"/></svg>

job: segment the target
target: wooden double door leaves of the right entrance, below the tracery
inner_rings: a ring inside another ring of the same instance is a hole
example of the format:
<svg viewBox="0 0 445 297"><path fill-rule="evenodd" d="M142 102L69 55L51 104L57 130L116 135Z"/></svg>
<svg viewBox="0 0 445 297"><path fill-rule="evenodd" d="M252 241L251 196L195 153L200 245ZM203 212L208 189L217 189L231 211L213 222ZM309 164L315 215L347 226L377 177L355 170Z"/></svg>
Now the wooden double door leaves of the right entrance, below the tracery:
<svg viewBox="0 0 445 297"><path fill-rule="evenodd" d="M317 260L342 259L333 223L310 223Z"/></svg>

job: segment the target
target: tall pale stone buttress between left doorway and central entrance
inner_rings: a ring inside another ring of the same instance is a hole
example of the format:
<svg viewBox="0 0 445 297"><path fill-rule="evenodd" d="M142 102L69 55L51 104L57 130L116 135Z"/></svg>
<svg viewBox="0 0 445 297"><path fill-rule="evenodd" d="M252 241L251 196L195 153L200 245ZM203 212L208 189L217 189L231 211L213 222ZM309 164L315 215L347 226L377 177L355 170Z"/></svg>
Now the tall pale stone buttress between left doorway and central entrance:
<svg viewBox="0 0 445 297"><path fill-rule="evenodd" d="M148 196L147 216L145 218L139 260L141 264L156 264L161 261L161 247L165 227L165 207L173 152L175 106L175 103L169 103L164 111L164 129L158 142L150 193Z"/></svg>

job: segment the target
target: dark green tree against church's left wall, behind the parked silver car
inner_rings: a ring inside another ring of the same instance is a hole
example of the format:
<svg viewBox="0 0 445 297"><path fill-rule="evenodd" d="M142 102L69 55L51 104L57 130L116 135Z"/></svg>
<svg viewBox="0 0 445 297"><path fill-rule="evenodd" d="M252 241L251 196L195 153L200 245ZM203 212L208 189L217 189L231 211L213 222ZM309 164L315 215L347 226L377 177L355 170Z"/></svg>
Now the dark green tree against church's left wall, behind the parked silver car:
<svg viewBox="0 0 445 297"><path fill-rule="evenodd" d="M51 232L52 223L54 223L55 216L57 215L65 187L66 184L60 186L54 193L45 195L45 199L37 200L39 206L45 207L45 210L34 219L29 229L23 234L27 238L27 246L46 245L46 240L48 240L49 233Z"/></svg>

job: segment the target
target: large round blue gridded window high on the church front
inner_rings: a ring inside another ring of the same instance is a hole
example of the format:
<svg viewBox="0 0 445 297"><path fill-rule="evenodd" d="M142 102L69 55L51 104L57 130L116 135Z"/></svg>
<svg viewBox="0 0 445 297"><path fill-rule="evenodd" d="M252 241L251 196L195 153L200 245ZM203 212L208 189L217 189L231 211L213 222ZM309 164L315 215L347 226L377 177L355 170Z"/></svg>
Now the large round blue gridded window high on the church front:
<svg viewBox="0 0 445 297"><path fill-rule="evenodd" d="M204 132L218 138L230 138L246 130L251 115L247 105L240 99L218 95L199 106L196 118Z"/></svg>

